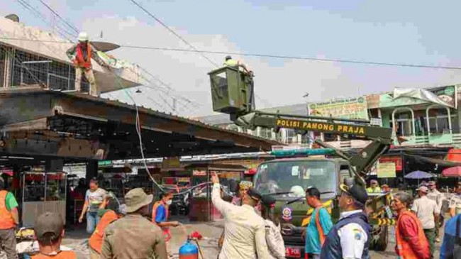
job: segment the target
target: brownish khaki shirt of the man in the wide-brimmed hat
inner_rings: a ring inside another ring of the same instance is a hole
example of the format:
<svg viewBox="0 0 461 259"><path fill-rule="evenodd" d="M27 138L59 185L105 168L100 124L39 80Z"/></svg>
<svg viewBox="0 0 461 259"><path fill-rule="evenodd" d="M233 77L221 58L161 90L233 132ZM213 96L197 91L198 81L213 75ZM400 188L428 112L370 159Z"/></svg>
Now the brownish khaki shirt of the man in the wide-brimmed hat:
<svg viewBox="0 0 461 259"><path fill-rule="evenodd" d="M128 214L107 226L101 259L140 258L168 258L160 227L136 214Z"/></svg>

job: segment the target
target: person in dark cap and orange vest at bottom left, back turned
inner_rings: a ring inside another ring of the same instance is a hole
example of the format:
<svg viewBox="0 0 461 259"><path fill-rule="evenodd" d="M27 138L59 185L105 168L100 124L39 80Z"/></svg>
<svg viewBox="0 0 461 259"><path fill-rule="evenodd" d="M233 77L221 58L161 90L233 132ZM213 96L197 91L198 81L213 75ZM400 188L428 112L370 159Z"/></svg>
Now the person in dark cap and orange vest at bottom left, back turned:
<svg viewBox="0 0 461 259"><path fill-rule="evenodd" d="M62 251L64 219L57 213L45 212L38 216L33 227L39 252L32 259L77 259L74 251Z"/></svg>

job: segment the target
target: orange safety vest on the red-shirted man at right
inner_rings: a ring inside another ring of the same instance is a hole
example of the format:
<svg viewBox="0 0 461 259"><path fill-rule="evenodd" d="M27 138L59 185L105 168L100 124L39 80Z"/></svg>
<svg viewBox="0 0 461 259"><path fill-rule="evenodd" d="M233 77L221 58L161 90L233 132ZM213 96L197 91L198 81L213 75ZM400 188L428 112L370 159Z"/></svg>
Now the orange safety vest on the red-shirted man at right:
<svg viewBox="0 0 461 259"><path fill-rule="evenodd" d="M399 215L396 224L396 252L397 254L403 259L421 259L414 253L413 248L411 248L410 243L406 241L406 239L401 236L400 233L400 226L399 221L402 216L409 216L413 221L418 224L418 240L421 242L421 246L424 248L424 253L428 255L429 258L429 243L426 239L426 235L424 235L423 226L421 225L421 221L419 221L418 217L413 214L411 211L405 211L404 213Z"/></svg>

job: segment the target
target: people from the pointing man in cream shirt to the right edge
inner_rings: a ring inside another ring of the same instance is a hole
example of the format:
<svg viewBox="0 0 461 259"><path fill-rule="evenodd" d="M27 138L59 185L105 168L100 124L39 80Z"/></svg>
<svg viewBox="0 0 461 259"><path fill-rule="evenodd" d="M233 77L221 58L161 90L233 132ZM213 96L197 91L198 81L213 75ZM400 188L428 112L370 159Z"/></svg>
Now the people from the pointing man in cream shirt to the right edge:
<svg viewBox="0 0 461 259"><path fill-rule="evenodd" d="M225 219L218 258L285 258L284 241L279 220L274 216L275 199L262 196L252 188L251 182L241 182L239 199L223 194L216 175L213 182L212 202ZM313 208L304 233L304 258L370 258L369 246L372 228L365 204L371 192L388 193L392 190L377 180L365 189L359 184L341 184L338 204L340 219L333 224L321 203L316 187L305 190L306 202ZM413 199L407 192L392 196L391 209L396 216L396 247L399 258L434 258L435 243L440 243L441 207L443 197L435 182L417 189ZM461 184L449 199L451 219L445 224L440 258L461 256ZM235 202L235 201L239 202ZM260 206L262 204L262 206ZM260 206L261 209L257 209ZM265 231L263 231L265 229Z"/></svg>

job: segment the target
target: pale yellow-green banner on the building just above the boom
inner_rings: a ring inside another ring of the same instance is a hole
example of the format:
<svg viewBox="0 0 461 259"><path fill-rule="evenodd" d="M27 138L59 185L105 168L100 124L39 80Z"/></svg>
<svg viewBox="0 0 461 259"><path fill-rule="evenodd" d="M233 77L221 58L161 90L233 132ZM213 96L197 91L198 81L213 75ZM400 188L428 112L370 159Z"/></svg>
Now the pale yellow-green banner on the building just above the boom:
<svg viewBox="0 0 461 259"><path fill-rule="evenodd" d="M309 115L367 120L367 101L365 97L358 97L309 104Z"/></svg>

